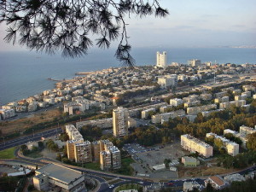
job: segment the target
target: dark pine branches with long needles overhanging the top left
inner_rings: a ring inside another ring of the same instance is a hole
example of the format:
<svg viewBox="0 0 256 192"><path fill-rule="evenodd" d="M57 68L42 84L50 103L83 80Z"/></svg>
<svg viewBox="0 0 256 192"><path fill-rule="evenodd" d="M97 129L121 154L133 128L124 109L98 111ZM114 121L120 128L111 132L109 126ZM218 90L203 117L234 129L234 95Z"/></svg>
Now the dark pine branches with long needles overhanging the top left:
<svg viewBox="0 0 256 192"><path fill-rule="evenodd" d="M29 49L55 53L71 57L85 55L93 44L90 40L96 35L96 45L108 48L120 37L116 58L123 65L132 67L134 59L130 55L125 16L139 17L154 15L165 17L166 9L158 0L119 1L13 1L0 3L0 22L9 28L5 41L19 42Z"/></svg>

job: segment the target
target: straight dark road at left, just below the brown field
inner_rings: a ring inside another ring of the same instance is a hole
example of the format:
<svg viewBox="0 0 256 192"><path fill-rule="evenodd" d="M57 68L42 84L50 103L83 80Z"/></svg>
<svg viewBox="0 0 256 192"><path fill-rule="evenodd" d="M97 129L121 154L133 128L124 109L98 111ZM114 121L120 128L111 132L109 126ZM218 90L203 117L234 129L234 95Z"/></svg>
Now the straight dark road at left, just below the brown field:
<svg viewBox="0 0 256 192"><path fill-rule="evenodd" d="M28 142L35 142L35 141L39 141L42 139L42 137L46 138L46 137L52 137L55 136L59 133L62 132L61 127L55 128L53 130L48 130L48 131L43 131L40 133L34 133L30 136L26 136L26 137L19 137L19 138L15 138L13 140L7 141L7 142L3 142L0 143L0 151L6 148L13 148L16 146L20 146L22 144L26 144Z"/></svg>

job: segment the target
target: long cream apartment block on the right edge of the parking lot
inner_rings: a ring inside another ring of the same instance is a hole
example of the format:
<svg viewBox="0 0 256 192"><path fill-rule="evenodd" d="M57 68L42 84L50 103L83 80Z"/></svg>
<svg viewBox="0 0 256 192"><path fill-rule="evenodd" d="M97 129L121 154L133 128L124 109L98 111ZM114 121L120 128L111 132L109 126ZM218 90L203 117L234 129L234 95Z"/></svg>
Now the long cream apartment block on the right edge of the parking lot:
<svg viewBox="0 0 256 192"><path fill-rule="evenodd" d="M189 136L188 134L181 136L181 146L191 153L197 152L206 158L211 157L213 153L211 145L204 143L195 137Z"/></svg>

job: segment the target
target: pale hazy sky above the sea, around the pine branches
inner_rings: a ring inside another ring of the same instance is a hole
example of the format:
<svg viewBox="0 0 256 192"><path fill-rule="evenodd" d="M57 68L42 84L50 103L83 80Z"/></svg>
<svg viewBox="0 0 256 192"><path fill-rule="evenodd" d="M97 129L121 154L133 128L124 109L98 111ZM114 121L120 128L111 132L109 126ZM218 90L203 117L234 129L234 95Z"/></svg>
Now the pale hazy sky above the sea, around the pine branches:
<svg viewBox="0 0 256 192"><path fill-rule="evenodd" d="M206 47L256 45L255 0L161 0L170 15L165 19L127 18L133 47ZM3 42L0 50L25 49Z"/></svg>

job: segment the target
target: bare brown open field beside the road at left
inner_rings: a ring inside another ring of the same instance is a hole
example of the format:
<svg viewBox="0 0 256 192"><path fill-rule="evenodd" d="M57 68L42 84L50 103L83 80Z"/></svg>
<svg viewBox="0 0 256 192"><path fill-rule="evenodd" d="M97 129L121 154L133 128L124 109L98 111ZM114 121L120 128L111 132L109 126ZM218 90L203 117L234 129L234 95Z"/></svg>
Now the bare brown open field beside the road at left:
<svg viewBox="0 0 256 192"><path fill-rule="evenodd" d="M52 121L58 117L61 117L61 111L58 108L54 108L40 113L32 113L25 118L2 122L0 123L0 129L3 131L3 135L6 135L9 133L24 131L32 125Z"/></svg>

